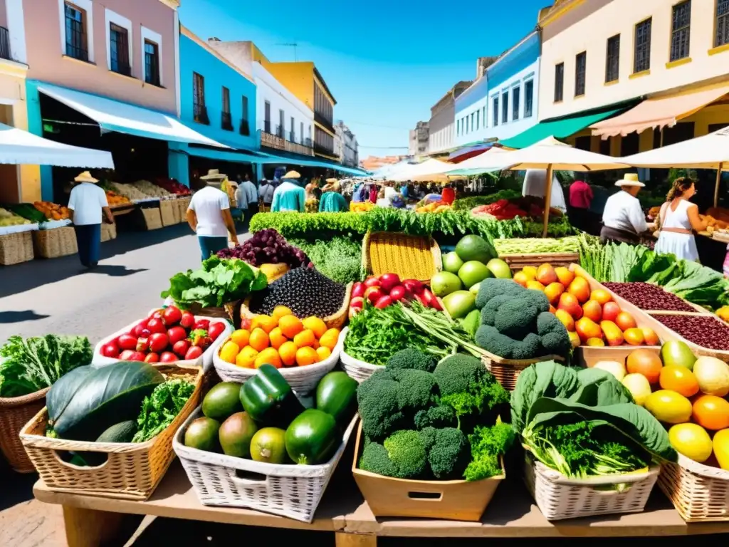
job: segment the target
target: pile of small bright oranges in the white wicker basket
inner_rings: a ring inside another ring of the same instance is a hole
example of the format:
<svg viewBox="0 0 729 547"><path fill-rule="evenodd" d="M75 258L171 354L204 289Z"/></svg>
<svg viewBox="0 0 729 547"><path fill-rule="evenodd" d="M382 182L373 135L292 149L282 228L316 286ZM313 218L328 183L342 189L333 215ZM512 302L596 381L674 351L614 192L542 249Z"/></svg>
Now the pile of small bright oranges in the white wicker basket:
<svg viewBox="0 0 729 547"><path fill-rule="evenodd" d="M327 329L319 317L299 319L286 306L257 315L249 329L238 329L220 348L220 359L242 368L268 363L276 368L313 365L330 357L339 329Z"/></svg>

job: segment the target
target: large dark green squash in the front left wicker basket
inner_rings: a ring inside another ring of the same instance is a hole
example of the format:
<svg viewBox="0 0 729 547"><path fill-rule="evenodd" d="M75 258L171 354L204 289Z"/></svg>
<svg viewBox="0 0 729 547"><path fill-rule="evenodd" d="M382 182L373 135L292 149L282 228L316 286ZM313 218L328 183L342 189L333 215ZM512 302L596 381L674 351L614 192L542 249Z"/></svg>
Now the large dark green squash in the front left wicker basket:
<svg viewBox="0 0 729 547"><path fill-rule="evenodd" d="M163 381L164 376L146 362L122 361L93 368L68 403L60 410L55 408L47 435L95 441L113 424L136 419L144 397Z"/></svg>

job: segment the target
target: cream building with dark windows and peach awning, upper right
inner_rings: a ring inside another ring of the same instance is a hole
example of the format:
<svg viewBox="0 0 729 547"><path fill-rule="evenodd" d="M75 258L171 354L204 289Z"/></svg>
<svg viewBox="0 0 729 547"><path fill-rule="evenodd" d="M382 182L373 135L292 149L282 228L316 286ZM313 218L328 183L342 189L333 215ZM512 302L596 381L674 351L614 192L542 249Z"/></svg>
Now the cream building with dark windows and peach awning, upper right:
<svg viewBox="0 0 729 547"><path fill-rule="evenodd" d="M540 120L616 105L572 144L628 155L729 125L726 0L558 0L539 26Z"/></svg>

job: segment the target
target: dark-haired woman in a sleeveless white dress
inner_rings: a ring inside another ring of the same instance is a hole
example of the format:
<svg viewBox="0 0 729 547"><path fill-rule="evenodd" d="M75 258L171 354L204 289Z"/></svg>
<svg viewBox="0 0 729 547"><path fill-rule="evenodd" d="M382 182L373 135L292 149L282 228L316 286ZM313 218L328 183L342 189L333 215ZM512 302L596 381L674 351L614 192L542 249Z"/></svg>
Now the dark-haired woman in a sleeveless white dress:
<svg viewBox="0 0 729 547"><path fill-rule="evenodd" d="M693 180L685 177L674 180L666 203L663 203L658 214L660 236L655 244L655 252L676 255L679 260L698 262L693 233L706 230L706 221L698 216L698 205L689 201L695 193Z"/></svg>

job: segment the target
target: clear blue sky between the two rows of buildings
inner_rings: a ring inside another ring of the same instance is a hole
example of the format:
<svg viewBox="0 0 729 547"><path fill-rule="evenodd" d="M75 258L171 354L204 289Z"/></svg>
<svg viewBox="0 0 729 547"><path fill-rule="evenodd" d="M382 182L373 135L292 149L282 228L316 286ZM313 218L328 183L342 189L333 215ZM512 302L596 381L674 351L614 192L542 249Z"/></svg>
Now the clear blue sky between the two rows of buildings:
<svg viewBox="0 0 729 547"><path fill-rule="evenodd" d="M518 4L518 8L516 5ZM180 20L202 39L252 40L271 61L314 61L338 101L335 118L360 157L405 154L408 130L476 58L499 55L537 25L549 0L182 0ZM396 148L399 147L399 148Z"/></svg>

